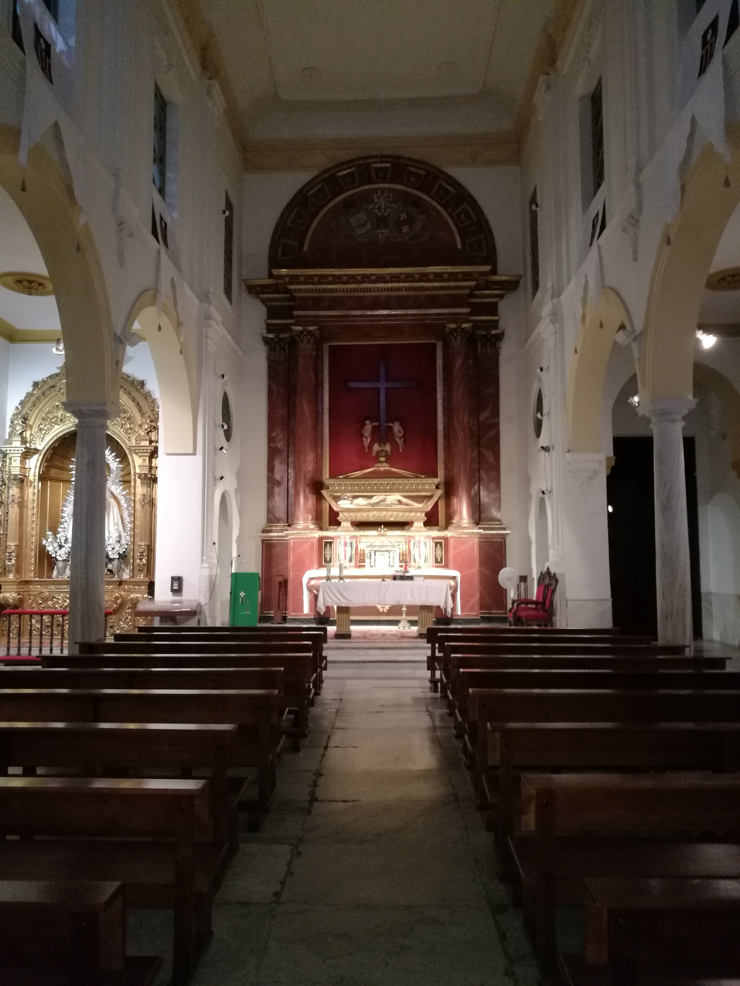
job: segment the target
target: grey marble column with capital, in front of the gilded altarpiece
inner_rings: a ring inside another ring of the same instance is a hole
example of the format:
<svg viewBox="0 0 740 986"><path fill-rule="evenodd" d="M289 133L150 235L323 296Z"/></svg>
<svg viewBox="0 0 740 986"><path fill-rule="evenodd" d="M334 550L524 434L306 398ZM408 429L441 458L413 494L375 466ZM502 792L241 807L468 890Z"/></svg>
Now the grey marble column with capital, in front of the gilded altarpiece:
<svg viewBox="0 0 740 986"><path fill-rule="evenodd" d="M106 427L115 409L69 400L64 409L77 418L68 625L76 654L79 641L106 635Z"/></svg>

